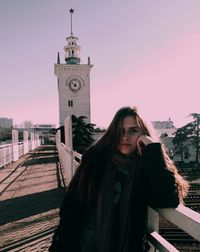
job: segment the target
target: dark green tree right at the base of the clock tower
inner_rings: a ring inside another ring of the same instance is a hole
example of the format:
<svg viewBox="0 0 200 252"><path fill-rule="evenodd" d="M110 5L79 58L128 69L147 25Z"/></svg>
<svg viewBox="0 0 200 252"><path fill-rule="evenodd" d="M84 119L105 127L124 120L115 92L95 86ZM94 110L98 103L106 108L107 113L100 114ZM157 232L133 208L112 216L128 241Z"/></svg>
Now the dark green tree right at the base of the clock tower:
<svg viewBox="0 0 200 252"><path fill-rule="evenodd" d="M93 142L95 124L85 122L85 116L72 115L73 150L83 153Z"/></svg>

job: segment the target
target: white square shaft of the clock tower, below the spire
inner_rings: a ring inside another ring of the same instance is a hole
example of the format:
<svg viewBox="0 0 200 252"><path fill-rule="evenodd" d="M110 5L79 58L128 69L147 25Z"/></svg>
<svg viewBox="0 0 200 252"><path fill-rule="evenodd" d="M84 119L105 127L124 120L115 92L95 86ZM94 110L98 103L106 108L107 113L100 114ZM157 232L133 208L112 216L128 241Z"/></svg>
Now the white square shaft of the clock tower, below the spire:
<svg viewBox="0 0 200 252"><path fill-rule="evenodd" d="M60 125L69 115L85 116L90 122L90 69L87 64L55 64L58 78ZM73 89L72 81L80 81L78 89Z"/></svg>

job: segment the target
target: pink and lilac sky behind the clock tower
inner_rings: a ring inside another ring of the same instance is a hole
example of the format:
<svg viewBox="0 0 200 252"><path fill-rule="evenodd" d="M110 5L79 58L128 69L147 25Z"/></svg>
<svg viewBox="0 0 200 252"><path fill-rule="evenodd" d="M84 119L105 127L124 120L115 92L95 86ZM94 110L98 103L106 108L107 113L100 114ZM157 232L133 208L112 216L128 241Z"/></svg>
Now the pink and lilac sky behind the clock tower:
<svg viewBox="0 0 200 252"><path fill-rule="evenodd" d="M1 0L0 117L58 125L54 75L66 37L90 56L91 122L106 128L123 106L176 127L200 113L199 0Z"/></svg>

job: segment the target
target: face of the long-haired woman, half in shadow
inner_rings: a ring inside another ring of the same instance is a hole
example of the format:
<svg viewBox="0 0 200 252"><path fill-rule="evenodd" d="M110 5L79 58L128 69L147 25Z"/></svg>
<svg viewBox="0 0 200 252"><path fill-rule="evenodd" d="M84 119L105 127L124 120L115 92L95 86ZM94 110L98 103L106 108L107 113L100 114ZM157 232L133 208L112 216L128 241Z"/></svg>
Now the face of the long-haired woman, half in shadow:
<svg viewBox="0 0 200 252"><path fill-rule="evenodd" d="M127 116L122 121L122 135L118 144L118 151L129 155L137 151L138 137L143 134L139 128L136 119L133 116Z"/></svg>

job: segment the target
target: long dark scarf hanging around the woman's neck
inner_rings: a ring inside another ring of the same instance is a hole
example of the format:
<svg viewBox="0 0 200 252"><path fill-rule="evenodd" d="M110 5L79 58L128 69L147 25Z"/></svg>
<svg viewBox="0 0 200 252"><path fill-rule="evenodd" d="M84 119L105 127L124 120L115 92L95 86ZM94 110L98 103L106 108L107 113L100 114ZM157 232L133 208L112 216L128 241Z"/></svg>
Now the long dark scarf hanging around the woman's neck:
<svg viewBox="0 0 200 252"><path fill-rule="evenodd" d="M116 153L107 166L97 206L98 252L129 252L133 248L133 246L130 247L130 243L134 243L134 236L137 232L132 224L137 218L133 214L133 210L137 204L135 194L140 174L141 165L139 163L137 156L127 157ZM115 206L113 204L116 167L130 170L120 196L117 223L115 223ZM136 248L132 251L140 252L142 250Z"/></svg>

